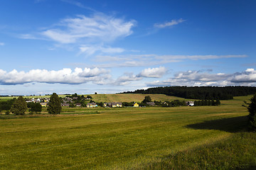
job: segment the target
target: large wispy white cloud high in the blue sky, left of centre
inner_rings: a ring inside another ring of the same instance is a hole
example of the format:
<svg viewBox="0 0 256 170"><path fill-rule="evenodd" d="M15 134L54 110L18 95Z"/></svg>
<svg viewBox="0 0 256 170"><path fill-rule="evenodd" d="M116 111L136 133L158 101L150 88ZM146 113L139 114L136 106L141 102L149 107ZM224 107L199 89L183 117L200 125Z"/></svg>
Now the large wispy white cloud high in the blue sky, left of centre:
<svg viewBox="0 0 256 170"><path fill-rule="evenodd" d="M132 34L135 21L95 13L93 16L79 15L65 18L54 28L44 30L41 35L60 43L75 43L81 40L110 42Z"/></svg>

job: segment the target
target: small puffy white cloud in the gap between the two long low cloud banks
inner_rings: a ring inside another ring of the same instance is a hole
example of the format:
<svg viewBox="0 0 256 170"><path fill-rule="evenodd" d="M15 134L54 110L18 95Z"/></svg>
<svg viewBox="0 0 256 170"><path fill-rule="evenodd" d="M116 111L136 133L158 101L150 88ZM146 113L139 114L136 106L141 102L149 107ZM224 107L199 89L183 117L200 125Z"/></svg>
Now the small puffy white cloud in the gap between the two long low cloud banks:
<svg viewBox="0 0 256 170"><path fill-rule="evenodd" d="M154 77L154 78L160 78L164 74L166 74L167 69L165 67L159 67L159 68L148 68L142 70L142 72L139 74L139 77Z"/></svg>

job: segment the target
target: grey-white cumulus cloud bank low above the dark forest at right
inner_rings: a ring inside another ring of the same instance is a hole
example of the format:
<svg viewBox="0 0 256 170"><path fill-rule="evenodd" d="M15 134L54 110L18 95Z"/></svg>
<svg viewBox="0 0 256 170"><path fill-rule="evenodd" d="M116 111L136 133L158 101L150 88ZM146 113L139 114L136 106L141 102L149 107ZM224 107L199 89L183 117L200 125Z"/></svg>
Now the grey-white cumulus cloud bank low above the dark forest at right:
<svg viewBox="0 0 256 170"><path fill-rule="evenodd" d="M256 84L255 69L233 74L211 74L202 71L178 72L164 81L149 82L148 86L251 86Z"/></svg>

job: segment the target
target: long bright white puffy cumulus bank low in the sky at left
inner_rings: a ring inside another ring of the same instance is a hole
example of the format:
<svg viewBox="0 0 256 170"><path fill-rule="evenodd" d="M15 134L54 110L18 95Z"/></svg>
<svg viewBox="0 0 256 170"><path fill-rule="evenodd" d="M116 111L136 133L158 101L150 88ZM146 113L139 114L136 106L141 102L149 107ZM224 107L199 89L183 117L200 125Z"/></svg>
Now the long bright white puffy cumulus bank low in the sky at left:
<svg viewBox="0 0 256 170"><path fill-rule="evenodd" d="M29 72L18 72L16 69L11 72L6 72L0 69L0 84L27 84L31 82L48 83L48 84L83 84L87 82L94 82L101 84L101 82L109 78L109 71L99 68L75 68L60 69L60 70L46 70L46 69L32 69Z"/></svg>

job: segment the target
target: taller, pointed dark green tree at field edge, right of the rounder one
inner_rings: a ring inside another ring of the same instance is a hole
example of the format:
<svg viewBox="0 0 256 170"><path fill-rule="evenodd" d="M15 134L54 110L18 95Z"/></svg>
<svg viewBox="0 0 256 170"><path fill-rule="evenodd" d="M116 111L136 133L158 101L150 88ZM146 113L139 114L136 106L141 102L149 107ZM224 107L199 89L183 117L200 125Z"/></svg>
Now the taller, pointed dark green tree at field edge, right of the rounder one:
<svg viewBox="0 0 256 170"><path fill-rule="evenodd" d="M53 95L50 96L50 101L48 103L47 111L48 111L48 113L53 114L53 115L60 114L61 102L60 102L60 98L58 97L57 94L53 93Z"/></svg>

